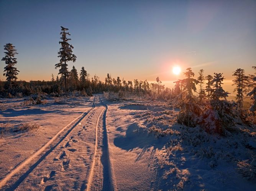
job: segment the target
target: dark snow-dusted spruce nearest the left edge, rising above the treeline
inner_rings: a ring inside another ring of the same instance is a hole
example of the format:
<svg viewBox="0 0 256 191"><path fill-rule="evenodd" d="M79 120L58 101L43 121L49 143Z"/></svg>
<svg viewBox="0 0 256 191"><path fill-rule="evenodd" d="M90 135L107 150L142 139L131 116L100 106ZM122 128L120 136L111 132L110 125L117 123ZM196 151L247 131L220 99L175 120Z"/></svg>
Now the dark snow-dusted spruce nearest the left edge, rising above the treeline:
<svg viewBox="0 0 256 191"><path fill-rule="evenodd" d="M8 43L3 47L6 52L4 52L5 57L2 58L2 61L5 61L5 64L7 65L3 70L3 75L6 76L5 89L11 89L17 80L18 72L20 72L16 67L14 67L14 65L17 63L17 58L14 58L14 56L18 53L15 46L13 46L11 43Z"/></svg>

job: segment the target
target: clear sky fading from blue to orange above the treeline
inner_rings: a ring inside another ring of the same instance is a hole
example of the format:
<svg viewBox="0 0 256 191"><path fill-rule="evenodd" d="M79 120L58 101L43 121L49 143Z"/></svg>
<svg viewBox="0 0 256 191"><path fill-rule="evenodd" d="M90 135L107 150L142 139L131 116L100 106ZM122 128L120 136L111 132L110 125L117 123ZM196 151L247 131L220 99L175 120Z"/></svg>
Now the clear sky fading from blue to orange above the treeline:
<svg viewBox="0 0 256 191"><path fill-rule="evenodd" d="M172 66L197 74L236 68L254 73L256 1L65 1L0 0L0 57L3 45L18 50L22 80L50 80L58 70L60 26L69 28L82 66L104 80L107 73L126 80L173 81ZM194 53L196 52L196 53ZM0 79L5 63L0 62Z"/></svg>

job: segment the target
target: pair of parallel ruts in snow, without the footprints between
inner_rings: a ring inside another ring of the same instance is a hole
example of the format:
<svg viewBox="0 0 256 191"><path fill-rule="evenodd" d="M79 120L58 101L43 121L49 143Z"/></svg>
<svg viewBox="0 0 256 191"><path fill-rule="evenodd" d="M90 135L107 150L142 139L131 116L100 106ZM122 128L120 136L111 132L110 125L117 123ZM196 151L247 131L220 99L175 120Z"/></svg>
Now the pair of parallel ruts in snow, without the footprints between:
<svg viewBox="0 0 256 191"><path fill-rule="evenodd" d="M96 96L95 96L96 97ZM0 180L0 190L5 189L5 190L14 190L16 189L22 181L36 168L39 163L41 163L49 154L51 154L54 149L64 141L64 139L71 133L71 131L82 121L82 119L85 118L85 116L88 115L96 106L95 106L95 97L92 101L92 107L87 109L85 112L83 112L81 115L79 115L77 118L72 120L68 125L66 125L64 128L62 128L51 140L49 140L43 147L41 147L38 151L36 151L33 155L31 155L28 159L24 160L21 162L19 165L17 165L11 172L9 172L2 180ZM106 115L107 115L107 105L103 104L102 100L100 99L100 95L98 96L101 104L104 106L102 111L100 112L98 118L97 118L97 123L95 126L95 149L94 149L94 156L93 160L90 166L90 171L89 171L89 177L87 181L87 186L86 190L90 191L92 190L92 182L95 179L95 176L97 174L94 173L94 168L95 168L95 162L97 160L102 160L102 165L103 165L103 190L115 190L115 186L113 183L113 173L112 173L112 168L111 168L111 162L110 162L110 154L109 154L109 148L108 148L108 137L107 137L107 124L106 124ZM103 116L102 116L103 113ZM98 126L100 123L100 119L102 117L102 125L103 125L103 134L102 134L102 156L101 159L97 156L98 147L99 147L99 140L98 140ZM74 125L72 125L74 123ZM71 126L72 125L72 126ZM60 134L67 129L67 132L60 137ZM56 139L58 139L57 142L54 142ZM45 151L48 149L47 151ZM45 151L45 152L44 152ZM35 159L36 157L39 157L39 159ZM33 164L31 164L33 162ZM26 168L25 173L21 173L21 170L24 170L23 168ZM16 175L17 173L21 173L19 176L18 180L16 180L14 183L9 182L10 179ZM10 185L8 185L8 182Z"/></svg>

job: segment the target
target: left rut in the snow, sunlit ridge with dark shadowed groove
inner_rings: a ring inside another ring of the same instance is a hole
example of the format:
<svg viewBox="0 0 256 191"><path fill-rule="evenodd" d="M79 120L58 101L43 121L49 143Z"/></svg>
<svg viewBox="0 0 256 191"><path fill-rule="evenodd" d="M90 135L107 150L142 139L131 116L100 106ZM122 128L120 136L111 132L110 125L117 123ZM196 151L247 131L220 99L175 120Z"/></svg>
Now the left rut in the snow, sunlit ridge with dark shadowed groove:
<svg viewBox="0 0 256 191"><path fill-rule="evenodd" d="M24 160L23 162L21 162L19 165L16 166L15 169L13 169L11 172L9 172L1 181L0 181L0 189L3 188L3 186L6 185L6 183L8 182L8 180L11 179L11 177L13 175L15 175L16 173L20 172L20 170L22 170L24 167L26 167L30 162L33 161L34 158L38 157L38 155L42 154L43 151L49 147L51 145L51 143L58 138L58 136L67 128L69 127L72 123L75 124L67 131L67 133L64 134L64 136L61 137L61 139L59 139L59 141L54 144L54 146L52 146L48 151L46 151L38 160L36 160L36 162L31 165L29 167L29 169L23 173L23 175L21 175L17 181L15 181L14 184L12 184L10 186L10 188L7 188L6 190L14 190L16 189L20 183L32 172L32 170L34 168L36 168L36 166L47 156L49 155L67 136L68 134L72 131L72 129L74 129L79 123L80 121L93 109L95 108L95 96L94 99L92 100L92 107L87 109L85 112L83 112L81 115L79 115L77 118L75 118L74 120L72 120L68 125L66 125L64 128L62 128L53 138L51 138L44 146L42 146L38 151L34 152L33 155L31 155L28 159Z"/></svg>

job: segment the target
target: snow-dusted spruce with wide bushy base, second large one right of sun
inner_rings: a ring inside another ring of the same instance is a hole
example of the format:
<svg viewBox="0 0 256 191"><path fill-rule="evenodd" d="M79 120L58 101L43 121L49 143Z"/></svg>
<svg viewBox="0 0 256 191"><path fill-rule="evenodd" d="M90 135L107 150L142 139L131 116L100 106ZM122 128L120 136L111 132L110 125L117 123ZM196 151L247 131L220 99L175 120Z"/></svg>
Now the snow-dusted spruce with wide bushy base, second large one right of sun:
<svg viewBox="0 0 256 191"><path fill-rule="evenodd" d="M226 100L229 93L222 88L224 79L222 73L214 74L210 102L205 107L205 112L201 116L200 122L208 133L225 135L226 129L235 125L237 115L234 109L235 104Z"/></svg>

